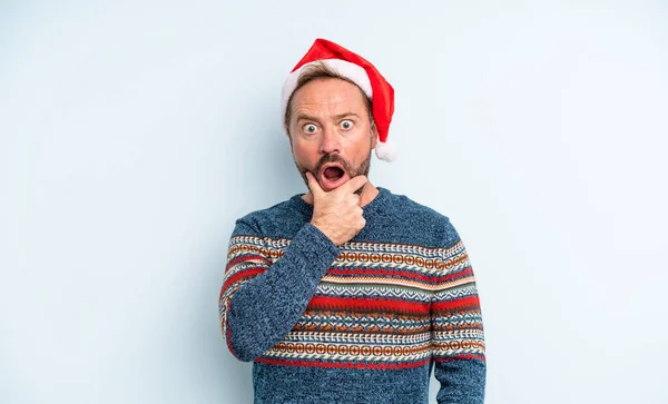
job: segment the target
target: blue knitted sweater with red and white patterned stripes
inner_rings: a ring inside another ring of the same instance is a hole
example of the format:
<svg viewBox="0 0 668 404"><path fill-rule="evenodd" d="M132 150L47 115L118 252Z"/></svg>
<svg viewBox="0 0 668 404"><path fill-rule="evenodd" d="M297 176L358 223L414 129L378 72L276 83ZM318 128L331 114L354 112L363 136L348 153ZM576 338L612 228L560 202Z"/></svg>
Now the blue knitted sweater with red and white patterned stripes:
<svg viewBox="0 0 668 404"><path fill-rule="evenodd" d="M236 221L219 312L255 403L482 403L473 270L448 217L379 188L337 247L296 195Z"/></svg>

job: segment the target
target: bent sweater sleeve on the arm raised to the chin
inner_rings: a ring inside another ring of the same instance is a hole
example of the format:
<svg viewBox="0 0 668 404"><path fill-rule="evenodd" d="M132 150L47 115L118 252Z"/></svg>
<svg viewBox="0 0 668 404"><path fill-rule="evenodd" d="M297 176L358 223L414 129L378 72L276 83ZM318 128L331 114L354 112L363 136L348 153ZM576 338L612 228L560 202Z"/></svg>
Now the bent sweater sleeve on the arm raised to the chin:
<svg viewBox="0 0 668 404"><path fill-rule="evenodd" d="M254 361L279 342L301 318L337 256L336 245L311 224L279 252L254 226L237 220L218 300L232 354Z"/></svg>

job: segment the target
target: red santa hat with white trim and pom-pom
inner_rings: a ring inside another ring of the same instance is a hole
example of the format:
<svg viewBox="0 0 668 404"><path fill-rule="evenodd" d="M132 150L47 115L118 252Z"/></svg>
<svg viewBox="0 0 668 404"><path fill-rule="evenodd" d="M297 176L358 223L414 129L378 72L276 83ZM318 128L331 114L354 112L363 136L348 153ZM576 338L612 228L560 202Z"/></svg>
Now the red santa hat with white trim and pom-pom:
<svg viewBox="0 0 668 404"><path fill-rule="evenodd" d="M302 60L293 68L281 93L283 115L285 115L289 97L297 87L299 76L306 67L316 61L357 85L371 99L371 112L379 132L375 154L382 160L394 160L395 147L387 142L390 122L392 114L394 114L394 89L366 59L332 41L316 39Z"/></svg>

